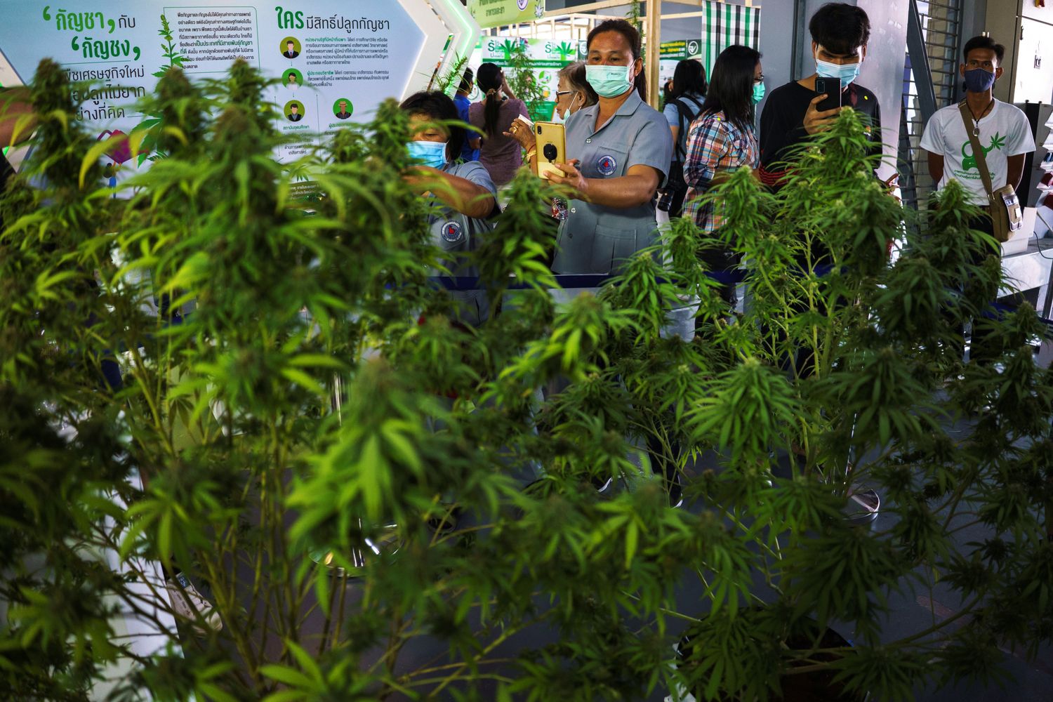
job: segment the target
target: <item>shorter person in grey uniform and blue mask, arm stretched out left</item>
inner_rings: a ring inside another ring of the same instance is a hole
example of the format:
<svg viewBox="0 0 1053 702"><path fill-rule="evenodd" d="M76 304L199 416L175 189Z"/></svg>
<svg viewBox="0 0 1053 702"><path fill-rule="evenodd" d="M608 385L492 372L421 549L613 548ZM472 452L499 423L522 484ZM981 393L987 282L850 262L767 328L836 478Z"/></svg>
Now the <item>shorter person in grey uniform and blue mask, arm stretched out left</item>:
<svg viewBox="0 0 1053 702"><path fill-rule="evenodd" d="M499 212L494 181L478 161L455 161L464 142L464 129L452 124L458 121L457 105L448 96L416 93L400 107L409 113L413 135L406 148L419 163L403 180L430 199L428 222L432 242L443 252L440 263L454 276L478 276L463 255L475 250L480 238L493 229L493 218ZM484 290L452 295L459 301L458 321L481 324L486 320Z"/></svg>

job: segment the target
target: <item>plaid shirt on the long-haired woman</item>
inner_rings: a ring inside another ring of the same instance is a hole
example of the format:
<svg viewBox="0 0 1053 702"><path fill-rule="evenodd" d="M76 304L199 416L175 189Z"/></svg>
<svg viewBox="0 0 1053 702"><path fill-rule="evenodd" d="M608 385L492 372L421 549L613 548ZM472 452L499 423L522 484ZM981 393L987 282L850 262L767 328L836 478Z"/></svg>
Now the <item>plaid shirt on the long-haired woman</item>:
<svg viewBox="0 0 1053 702"><path fill-rule="evenodd" d="M688 154L683 161L683 180L688 183L683 216L692 217L704 234L712 234L723 219L712 203L695 200L710 189L714 176L747 165L757 167L760 146L757 133L750 124L743 132L724 119L723 113L699 115L691 123Z"/></svg>

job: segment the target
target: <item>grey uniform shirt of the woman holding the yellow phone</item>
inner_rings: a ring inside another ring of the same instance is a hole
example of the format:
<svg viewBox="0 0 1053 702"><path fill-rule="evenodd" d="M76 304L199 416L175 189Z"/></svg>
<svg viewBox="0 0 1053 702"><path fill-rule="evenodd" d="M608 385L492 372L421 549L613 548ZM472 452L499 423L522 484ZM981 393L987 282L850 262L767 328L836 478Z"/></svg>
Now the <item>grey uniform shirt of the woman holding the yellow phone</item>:
<svg viewBox="0 0 1053 702"><path fill-rule="evenodd" d="M673 158L673 136L662 114L634 89L618 112L595 129L599 105L583 107L567 121L567 158L579 159L585 178L619 178L631 166L649 165L661 174L661 187ZM656 239L651 202L618 209L581 200L568 203L552 269L560 274L617 270L617 262Z"/></svg>

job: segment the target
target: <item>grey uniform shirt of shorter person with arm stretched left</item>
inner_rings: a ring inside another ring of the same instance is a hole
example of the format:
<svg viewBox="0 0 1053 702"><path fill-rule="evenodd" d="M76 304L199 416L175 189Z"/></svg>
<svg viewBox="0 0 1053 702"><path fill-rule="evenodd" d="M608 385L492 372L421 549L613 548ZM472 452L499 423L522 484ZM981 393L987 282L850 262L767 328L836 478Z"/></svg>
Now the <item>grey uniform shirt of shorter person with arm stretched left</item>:
<svg viewBox="0 0 1053 702"><path fill-rule="evenodd" d="M495 196L497 194L490 173L478 161L446 163L441 171L481 185ZM462 215L434 196L431 204L428 225L432 232L432 243L442 250L442 265L454 276L478 276L478 268L465 260L464 254L479 247L482 237L494 228L493 220ZM458 321L473 325L486 321L489 306L485 290L451 290L450 295L459 301Z"/></svg>

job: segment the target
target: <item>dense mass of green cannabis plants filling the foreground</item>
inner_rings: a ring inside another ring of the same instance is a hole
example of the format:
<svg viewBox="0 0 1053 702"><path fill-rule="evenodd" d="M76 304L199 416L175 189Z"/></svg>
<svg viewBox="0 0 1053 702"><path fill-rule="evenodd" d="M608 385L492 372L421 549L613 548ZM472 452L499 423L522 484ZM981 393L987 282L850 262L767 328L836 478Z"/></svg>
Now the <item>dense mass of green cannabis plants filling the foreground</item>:
<svg viewBox="0 0 1053 702"><path fill-rule="evenodd" d="M960 189L889 265L903 213L853 115L778 195L735 174L735 315L688 220L555 304L554 194L520 174L470 327L397 105L278 164L265 85L166 71L167 158L115 199L38 71L0 202L6 697L902 699L1049 643L1053 385L1033 310L985 317L999 268ZM699 334L669 335L692 299ZM989 365L948 360L967 318ZM859 483L869 530L843 518ZM174 609L177 573L221 627ZM959 614L891 640L918 588Z"/></svg>

